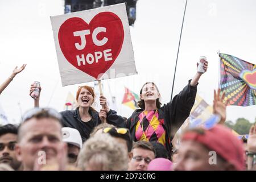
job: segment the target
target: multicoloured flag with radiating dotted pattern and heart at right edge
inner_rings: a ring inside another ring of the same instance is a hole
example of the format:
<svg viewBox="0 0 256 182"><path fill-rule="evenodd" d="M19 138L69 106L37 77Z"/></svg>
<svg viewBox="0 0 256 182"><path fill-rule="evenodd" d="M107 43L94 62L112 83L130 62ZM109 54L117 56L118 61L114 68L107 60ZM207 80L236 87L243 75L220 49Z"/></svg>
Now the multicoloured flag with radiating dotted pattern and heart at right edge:
<svg viewBox="0 0 256 182"><path fill-rule="evenodd" d="M256 105L256 65L220 53L220 89L228 105Z"/></svg>

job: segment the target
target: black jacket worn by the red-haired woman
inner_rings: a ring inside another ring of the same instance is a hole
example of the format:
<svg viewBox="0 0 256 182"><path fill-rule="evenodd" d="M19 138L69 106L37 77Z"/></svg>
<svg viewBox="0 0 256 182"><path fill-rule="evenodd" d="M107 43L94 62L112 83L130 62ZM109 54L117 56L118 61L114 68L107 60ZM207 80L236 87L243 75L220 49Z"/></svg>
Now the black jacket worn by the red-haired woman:
<svg viewBox="0 0 256 182"><path fill-rule="evenodd" d="M65 110L60 112L62 115L62 124L63 127L72 127L74 129L79 130L79 133L82 137L82 142L85 142L86 139L89 138L90 132L84 130L84 122L81 120L79 115L79 107L77 107L75 110ZM98 117L98 112L93 111L92 109L89 109L89 114L92 116L93 120L93 126L97 126L101 124L100 117ZM114 110L109 111L106 118L107 122L109 124L112 124L117 127L124 127L125 122L122 117L117 115L117 112Z"/></svg>

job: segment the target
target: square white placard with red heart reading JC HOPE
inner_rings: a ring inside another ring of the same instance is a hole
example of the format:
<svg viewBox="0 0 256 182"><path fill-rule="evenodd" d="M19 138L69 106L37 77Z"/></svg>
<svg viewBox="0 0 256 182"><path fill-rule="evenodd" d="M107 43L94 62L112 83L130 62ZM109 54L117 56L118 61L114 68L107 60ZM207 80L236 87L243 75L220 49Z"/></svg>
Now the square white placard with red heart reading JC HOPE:
<svg viewBox="0 0 256 182"><path fill-rule="evenodd" d="M63 86L137 73L125 3L51 16Z"/></svg>

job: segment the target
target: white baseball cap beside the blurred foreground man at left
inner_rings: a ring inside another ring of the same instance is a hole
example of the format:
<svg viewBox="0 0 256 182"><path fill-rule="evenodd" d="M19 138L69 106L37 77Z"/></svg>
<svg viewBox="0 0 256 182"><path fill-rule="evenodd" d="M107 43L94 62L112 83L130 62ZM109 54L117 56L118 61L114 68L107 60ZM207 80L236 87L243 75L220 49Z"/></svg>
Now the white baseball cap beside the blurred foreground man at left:
<svg viewBox="0 0 256 182"><path fill-rule="evenodd" d="M61 131L63 142L73 144L80 149L82 148L82 137L77 129L72 129L71 127L63 127Z"/></svg>

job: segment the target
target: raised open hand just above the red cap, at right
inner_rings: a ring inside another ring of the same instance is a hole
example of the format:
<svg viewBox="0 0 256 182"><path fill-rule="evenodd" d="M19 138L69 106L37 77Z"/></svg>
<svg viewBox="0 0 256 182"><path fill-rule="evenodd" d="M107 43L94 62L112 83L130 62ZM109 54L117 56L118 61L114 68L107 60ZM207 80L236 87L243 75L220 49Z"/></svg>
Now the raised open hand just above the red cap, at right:
<svg viewBox="0 0 256 182"><path fill-rule="evenodd" d="M226 121L226 102L224 100L225 92L220 94L220 91L221 90L218 89L216 93L216 90L214 90L213 114L217 114L221 117L219 123L222 124Z"/></svg>

